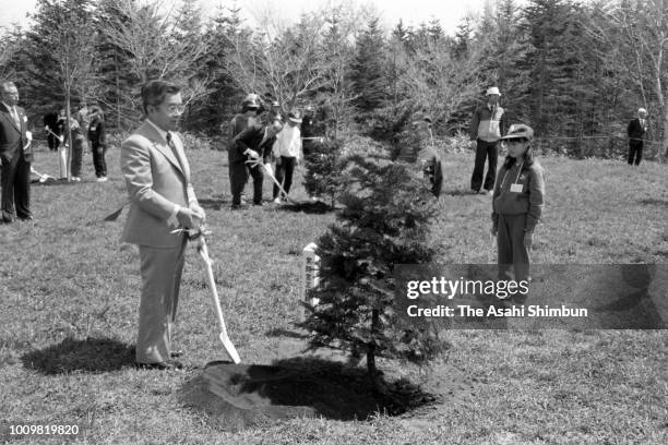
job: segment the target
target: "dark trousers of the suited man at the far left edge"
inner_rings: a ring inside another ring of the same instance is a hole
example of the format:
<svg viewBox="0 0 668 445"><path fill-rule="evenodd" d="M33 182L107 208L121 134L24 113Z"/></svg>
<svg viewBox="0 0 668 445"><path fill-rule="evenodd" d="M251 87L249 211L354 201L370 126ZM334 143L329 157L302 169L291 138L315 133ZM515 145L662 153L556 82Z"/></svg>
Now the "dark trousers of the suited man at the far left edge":
<svg viewBox="0 0 668 445"><path fill-rule="evenodd" d="M2 158L0 184L2 220L9 222L14 215L21 219L31 217L31 163L25 161L21 151L16 149L9 161Z"/></svg>

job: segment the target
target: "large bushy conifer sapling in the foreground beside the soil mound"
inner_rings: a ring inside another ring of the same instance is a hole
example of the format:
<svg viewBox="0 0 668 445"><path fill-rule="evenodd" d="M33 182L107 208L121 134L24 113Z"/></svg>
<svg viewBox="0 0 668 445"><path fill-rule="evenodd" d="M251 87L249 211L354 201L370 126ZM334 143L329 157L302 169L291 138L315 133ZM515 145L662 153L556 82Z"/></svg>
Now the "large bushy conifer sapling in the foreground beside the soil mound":
<svg viewBox="0 0 668 445"><path fill-rule="evenodd" d="M436 332L416 329L397 315L394 265L425 264L436 201L415 166L354 155L342 173L338 221L317 243L320 282L303 327L311 348L337 346L366 356L373 387L385 394L377 357L426 362L439 352Z"/></svg>

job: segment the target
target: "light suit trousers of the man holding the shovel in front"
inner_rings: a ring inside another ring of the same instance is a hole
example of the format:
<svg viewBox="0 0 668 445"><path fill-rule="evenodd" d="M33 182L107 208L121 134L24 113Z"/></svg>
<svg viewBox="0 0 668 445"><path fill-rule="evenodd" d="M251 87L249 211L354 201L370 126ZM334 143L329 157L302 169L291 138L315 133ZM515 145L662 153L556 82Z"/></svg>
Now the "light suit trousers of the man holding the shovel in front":
<svg viewBox="0 0 668 445"><path fill-rule="evenodd" d="M142 297L135 359L139 363L169 360L187 239L176 248L140 245Z"/></svg>

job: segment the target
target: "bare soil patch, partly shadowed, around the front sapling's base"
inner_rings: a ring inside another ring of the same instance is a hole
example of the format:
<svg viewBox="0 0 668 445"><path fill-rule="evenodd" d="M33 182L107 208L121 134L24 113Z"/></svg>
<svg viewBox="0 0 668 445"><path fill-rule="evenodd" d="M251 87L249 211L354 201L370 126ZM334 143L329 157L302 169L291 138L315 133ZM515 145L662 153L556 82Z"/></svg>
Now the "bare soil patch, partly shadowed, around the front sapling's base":
<svg viewBox="0 0 668 445"><path fill-rule="evenodd" d="M216 362L181 387L179 400L207 414L216 428L239 431L293 418L398 416L438 399L406 381L384 385L386 390L379 394L366 370L320 358L290 358L273 365Z"/></svg>

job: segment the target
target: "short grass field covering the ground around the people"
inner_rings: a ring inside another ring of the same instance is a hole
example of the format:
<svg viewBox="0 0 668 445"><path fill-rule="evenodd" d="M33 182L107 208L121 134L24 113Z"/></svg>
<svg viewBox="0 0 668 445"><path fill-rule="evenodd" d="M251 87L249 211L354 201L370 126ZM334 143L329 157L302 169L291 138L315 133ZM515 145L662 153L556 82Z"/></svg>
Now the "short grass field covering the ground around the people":
<svg viewBox="0 0 668 445"><path fill-rule="evenodd" d="M227 155L191 149L228 330L243 362L303 356L294 327L299 255L331 213L274 206L230 212ZM224 432L182 390L223 359L200 258L187 253L176 342L184 372L132 366L140 276L136 248L119 242L126 201L118 148L109 181L33 187L35 224L0 227L0 441L9 424L76 424L88 444L655 444L668 443L667 330L456 330L429 369L381 361L440 401L392 417L295 419ZM536 263L668 262L668 168L541 158L547 205ZM432 233L439 261L490 263L489 197L467 194L473 156L445 158L445 195ZM41 149L35 167L57 172ZM297 181L299 182L299 181ZM265 181L265 197L270 187ZM306 194L297 188L297 200ZM668 291L668 289L667 289ZM667 297L668 298L668 297ZM335 352L325 357L336 360ZM36 436L15 443L57 443Z"/></svg>

